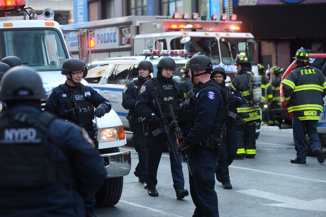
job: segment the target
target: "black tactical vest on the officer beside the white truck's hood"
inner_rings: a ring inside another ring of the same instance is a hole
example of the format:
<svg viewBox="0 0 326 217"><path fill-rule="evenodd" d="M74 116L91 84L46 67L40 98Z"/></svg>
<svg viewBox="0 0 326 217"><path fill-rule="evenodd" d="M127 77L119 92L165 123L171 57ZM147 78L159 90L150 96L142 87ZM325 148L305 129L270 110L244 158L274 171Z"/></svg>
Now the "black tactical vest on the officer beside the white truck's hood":
<svg viewBox="0 0 326 217"><path fill-rule="evenodd" d="M67 94L67 111L60 111L60 116L85 128L86 131L93 130L94 107L91 104L91 96L85 95L85 86L79 84L80 91L74 93L67 84L60 84L59 87Z"/></svg>

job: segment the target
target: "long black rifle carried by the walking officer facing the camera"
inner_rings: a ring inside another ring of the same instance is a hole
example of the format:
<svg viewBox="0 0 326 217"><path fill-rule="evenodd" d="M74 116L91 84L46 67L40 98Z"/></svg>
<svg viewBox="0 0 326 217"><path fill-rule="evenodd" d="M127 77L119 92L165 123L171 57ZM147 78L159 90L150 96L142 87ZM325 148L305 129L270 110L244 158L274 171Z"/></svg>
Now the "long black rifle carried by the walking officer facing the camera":
<svg viewBox="0 0 326 217"><path fill-rule="evenodd" d="M159 111L159 125L160 125L160 129L159 130L163 130L163 133L167 136L167 148L169 149L170 152L173 152L174 155L174 159L176 160L176 162L178 162L178 159L176 158L176 153L174 152L174 145L172 143L172 140L170 138L170 130L169 130L169 123L167 122L167 118L164 117L161 106L159 106L159 99L157 99L157 97L155 97L153 99L154 101L154 106L157 109L157 111ZM154 130L156 131L156 130ZM153 131L153 135L157 135L158 133L154 133Z"/></svg>

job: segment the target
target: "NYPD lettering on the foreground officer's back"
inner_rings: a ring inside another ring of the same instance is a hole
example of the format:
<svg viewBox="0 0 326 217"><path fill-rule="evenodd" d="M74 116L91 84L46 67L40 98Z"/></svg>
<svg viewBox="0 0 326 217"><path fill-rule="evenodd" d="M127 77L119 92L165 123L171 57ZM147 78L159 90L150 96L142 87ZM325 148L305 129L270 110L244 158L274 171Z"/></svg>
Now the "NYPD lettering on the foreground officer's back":
<svg viewBox="0 0 326 217"><path fill-rule="evenodd" d="M35 128L11 128L4 130L4 143L40 143L40 139L36 138Z"/></svg>

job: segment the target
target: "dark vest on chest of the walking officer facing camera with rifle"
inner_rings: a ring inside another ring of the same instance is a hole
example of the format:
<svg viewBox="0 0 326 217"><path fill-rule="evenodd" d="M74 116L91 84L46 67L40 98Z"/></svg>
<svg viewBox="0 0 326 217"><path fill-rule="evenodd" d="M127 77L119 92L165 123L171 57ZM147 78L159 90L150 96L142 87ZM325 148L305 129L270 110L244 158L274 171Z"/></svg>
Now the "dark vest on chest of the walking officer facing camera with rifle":
<svg viewBox="0 0 326 217"><path fill-rule="evenodd" d="M179 109L179 93L176 84L160 83L156 77L151 78L155 82L156 95L163 112L169 112L169 105L172 104L174 111Z"/></svg>

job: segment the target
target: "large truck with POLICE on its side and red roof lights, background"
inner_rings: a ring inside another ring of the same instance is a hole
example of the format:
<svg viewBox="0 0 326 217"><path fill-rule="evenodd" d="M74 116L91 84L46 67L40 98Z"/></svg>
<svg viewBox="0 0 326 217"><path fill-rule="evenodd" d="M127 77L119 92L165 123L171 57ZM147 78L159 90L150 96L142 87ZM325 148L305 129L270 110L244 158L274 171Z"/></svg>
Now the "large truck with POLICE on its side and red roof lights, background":
<svg viewBox="0 0 326 217"><path fill-rule="evenodd" d="M174 16L125 16L100 21L64 25L65 40L72 55L77 55L78 38L74 29L90 30L94 60L108 57L142 55L144 50L170 54L207 55L214 66L221 66L232 79L237 73L235 57L247 55L252 72L258 73L254 36L242 33L236 15L231 20L202 20L198 13Z"/></svg>

